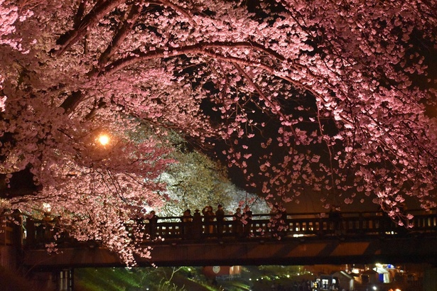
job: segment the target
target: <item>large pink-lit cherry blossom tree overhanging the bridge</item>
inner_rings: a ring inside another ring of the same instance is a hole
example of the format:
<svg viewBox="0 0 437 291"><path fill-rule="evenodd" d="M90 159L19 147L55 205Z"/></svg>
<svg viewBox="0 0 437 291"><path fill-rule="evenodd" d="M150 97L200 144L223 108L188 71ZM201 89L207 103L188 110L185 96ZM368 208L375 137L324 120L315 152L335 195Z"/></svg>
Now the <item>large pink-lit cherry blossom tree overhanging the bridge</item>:
<svg viewBox="0 0 437 291"><path fill-rule="evenodd" d="M436 207L435 0L46 2L0 1L0 170L40 185L9 208L122 251L90 221L161 203L168 130L268 199Z"/></svg>

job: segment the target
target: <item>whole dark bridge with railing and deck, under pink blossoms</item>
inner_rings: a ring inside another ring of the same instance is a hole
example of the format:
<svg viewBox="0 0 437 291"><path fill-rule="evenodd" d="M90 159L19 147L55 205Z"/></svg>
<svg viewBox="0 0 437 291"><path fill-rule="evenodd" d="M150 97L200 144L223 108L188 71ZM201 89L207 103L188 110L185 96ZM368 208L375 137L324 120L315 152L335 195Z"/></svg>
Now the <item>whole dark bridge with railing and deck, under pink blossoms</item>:
<svg viewBox="0 0 437 291"><path fill-rule="evenodd" d="M339 219L320 213L282 217L254 214L246 224L227 216L217 221L161 217L144 224L144 247L151 260L141 266L168 265L311 265L342 263L430 263L437 265L437 213L416 212L406 229L374 212L342 212ZM21 265L60 269L124 266L115 253L98 241L58 241L58 253L49 254L41 231L43 221L26 221ZM272 226L275 224L275 226ZM135 224L126 225L131 230ZM49 237L52 237L49 234ZM163 240L158 239L163 238Z"/></svg>

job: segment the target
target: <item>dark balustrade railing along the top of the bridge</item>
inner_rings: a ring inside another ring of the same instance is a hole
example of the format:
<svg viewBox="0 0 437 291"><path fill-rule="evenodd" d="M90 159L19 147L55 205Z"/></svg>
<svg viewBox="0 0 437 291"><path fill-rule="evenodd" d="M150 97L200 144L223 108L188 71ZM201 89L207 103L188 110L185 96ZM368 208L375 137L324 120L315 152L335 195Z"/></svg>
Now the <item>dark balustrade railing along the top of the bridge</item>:
<svg viewBox="0 0 437 291"><path fill-rule="evenodd" d="M204 239L268 239L335 236L391 236L398 234L433 233L437 234L437 213L417 212L409 221L411 229L394 224L387 215L375 212L342 212L337 219L329 214L303 213L288 214L284 221L272 214L254 214L252 219L232 220L225 216L225 221L200 220L183 221L180 216L159 217L156 223L136 221L126 224L129 234L134 231L144 233L144 243L160 243L157 238L168 241L203 241ZM27 219L25 223L27 246L37 246L53 241L54 234L62 229L48 221ZM63 233L60 241L68 241L68 234ZM0 241L1 242L1 241Z"/></svg>

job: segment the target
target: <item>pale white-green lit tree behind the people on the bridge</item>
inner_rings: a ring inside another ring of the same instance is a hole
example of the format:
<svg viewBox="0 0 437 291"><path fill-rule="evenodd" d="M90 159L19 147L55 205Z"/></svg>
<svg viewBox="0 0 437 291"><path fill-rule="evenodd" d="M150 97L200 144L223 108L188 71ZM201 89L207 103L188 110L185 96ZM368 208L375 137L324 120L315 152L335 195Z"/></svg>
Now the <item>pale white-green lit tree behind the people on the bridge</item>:
<svg viewBox="0 0 437 291"><path fill-rule="evenodd" d="M168 200L158 214L160 216L180 216L185 209L192 214L195 209L211 205L215 211L222 204L225 214L233 214L244 204L257 213L269 213L269 207L262 197L248 193L234 185L228 177L227 168L207 155L191 150L180 137L173 135L174 150L171 164L159 181L166 184L164 193Z"/></svg>

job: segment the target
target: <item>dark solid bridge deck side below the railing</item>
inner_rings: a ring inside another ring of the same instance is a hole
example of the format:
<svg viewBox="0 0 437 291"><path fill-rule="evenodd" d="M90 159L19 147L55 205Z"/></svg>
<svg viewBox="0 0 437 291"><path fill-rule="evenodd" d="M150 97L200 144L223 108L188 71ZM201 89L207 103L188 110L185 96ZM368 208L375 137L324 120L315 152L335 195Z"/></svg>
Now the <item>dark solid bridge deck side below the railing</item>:
<svg viewBox="0 0 437 291"><path fill-rule="evenodd" d="M139 265L313 265L342 263L437 263L436 236L408 236L353 240L296 239L281 241L215 241L167 243L153 246L151 259L137 258ZM115 253L85 246L62 248L48 254L26 250L23 265L43 268L123 266Z"/></svg>

